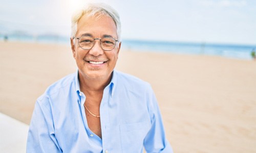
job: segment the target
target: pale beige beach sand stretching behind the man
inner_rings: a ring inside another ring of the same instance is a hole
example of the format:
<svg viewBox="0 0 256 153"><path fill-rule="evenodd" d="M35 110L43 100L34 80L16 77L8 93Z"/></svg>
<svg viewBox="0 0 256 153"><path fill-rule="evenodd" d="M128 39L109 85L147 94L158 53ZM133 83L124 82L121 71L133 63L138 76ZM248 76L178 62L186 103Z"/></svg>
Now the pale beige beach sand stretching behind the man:
<svg viewBox="0 0 256 153"><path fill-rule="evenodd" d="M256 152L256 61L121 49L151 83L175 152ZM0 112L30 123L36 98L76 71L70 46L0 42Z"/></svg>

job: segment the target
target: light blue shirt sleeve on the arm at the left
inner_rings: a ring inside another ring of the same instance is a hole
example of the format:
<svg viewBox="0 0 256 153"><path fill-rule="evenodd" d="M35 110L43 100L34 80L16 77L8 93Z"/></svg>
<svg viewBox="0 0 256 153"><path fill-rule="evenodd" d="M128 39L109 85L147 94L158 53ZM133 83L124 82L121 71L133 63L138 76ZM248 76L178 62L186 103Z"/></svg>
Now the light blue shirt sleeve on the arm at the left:
<svg viewBox="0 0 256 153"><path fill-rule="evenodd" d="M36 101L29 126L27 153L62 152L55 138L51 111L40 102Z"/></svg>

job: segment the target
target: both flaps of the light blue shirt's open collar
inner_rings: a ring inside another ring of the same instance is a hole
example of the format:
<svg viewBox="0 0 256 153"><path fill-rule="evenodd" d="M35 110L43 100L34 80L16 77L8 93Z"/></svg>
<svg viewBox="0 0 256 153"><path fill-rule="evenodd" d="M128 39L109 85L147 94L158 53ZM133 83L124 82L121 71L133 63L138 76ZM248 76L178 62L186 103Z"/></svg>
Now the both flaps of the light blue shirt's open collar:
<svg viewBox="0 0 256 153"><path fill-rule="evenodd" d="M115 92L115 88L116 88L116 83L117 83L117 72L115 70L113 70L112 72L112 78L111 78L111 82L108 86L110 86L110 92L111 92L111 96L114 95ZM75 77L75 89L76 92L79 94L80 91L80 84L79 84L79 79L78 79L78 70L76 72L76 77Z"/></svg>

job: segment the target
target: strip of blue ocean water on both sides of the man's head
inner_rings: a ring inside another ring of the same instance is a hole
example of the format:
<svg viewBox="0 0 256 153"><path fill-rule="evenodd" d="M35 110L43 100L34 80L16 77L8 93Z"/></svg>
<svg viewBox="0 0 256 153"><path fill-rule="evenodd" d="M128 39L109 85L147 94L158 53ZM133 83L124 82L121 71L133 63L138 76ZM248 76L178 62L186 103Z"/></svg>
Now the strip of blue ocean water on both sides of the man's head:
<svg viewBox="0 0 256 153"><path fill-rule="evenodd" d="M0 35L0 41L4 41L4 35ZM56 35L8 35L8 41L26 41L38 43L70 44L69 37ZM138 52L167 52L175 54L190 55L214 55L225 58L251 60L251 52L256 52L255 45L236 44L212 44L212 43L187 43L187 42L163 42L163 41L142 41L122 40L122 48L136 50Z"/></svg>

